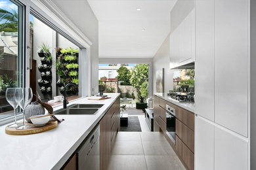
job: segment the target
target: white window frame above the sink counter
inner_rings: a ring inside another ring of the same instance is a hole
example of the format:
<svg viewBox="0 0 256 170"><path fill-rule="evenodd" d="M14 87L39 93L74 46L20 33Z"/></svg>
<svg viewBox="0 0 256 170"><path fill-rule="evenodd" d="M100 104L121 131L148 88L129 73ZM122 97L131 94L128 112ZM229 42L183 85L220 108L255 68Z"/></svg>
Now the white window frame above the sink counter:
<svg viewBox="0 0 256 170"><path fill-rule="evenodd" d="M53 28L58 27L62 36L79 47L79 96L91 95L91 45L93 44L83 33L66 17L51 0L17 0L25 5L25 52L24 52L24 75L30 75L30 13L31 10L39 14L41 20ZM57 31L54 29L54 31ZM57 31L58 32L58 31ZM66 35L66 36L65 36ZM67 37L68 36L68 37ZM24 80L26 87L30 86L30 76ZM17 119L22 118L18 115ZM14 116L0 120L0 126L14 121Z"/></svg>

